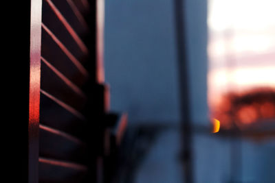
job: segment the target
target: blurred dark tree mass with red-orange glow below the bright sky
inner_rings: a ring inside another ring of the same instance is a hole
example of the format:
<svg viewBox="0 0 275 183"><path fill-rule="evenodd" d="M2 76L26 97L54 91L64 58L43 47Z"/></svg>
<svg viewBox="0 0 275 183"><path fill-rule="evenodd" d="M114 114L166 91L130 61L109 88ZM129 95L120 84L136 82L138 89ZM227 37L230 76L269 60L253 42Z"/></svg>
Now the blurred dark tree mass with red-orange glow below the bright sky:
<svg viewBox="0 0 275 183"><path fill-rule="evenodd" d="M212 108L211 117L223 121L223 129L243 128L275 119L275 89L254 88L243 93L225 94Z"/></svg>

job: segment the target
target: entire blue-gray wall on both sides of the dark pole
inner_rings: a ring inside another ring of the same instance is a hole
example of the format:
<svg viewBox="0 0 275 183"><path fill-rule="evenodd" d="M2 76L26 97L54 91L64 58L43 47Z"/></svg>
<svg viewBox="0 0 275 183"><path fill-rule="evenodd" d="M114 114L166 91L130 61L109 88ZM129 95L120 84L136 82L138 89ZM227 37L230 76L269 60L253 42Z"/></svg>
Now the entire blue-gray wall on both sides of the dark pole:
<svg viewBox="0 0 275 183"><path fill-rule="evenodd" d="M207 1L187 0L192 119L208 123ZM106 0L105 70L111 108L135 121L179 121L172 0Z"/></svg>

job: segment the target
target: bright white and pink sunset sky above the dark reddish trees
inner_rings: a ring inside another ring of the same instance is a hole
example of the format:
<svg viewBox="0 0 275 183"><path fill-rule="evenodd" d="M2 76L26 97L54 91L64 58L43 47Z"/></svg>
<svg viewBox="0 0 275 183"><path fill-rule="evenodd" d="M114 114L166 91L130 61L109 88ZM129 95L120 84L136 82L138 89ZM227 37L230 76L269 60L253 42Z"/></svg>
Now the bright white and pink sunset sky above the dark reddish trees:
<svg viewBox="0 0 275 183"><path fill-rule="evenodd" d="M210 0L208 101L228 91L275 88L275 1Z"/></svg>

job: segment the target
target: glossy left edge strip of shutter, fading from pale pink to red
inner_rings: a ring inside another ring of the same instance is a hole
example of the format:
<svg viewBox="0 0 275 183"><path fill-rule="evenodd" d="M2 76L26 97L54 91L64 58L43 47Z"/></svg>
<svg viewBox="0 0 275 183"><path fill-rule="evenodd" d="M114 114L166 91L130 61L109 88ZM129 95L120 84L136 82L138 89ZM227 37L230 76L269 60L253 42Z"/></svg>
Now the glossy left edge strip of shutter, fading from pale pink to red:
<svg viewBox="0 0 275 183"><path fill-rule="evenodd" d="M28 123L28 182L39 182L39 106L41 80L42 0L30 3L30 89Z"/></svg>

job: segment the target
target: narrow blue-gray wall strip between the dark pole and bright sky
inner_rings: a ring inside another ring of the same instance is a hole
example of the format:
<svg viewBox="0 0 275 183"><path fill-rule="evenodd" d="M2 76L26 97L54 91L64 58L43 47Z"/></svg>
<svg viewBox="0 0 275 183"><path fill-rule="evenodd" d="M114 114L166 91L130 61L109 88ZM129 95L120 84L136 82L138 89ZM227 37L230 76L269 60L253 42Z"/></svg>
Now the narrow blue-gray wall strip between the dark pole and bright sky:
<svg viewBox="0 0 275 183"><path fill-rule="evenodd" d="M193 123L208 125L207 0L185 0L186 42Z"/></svg>

